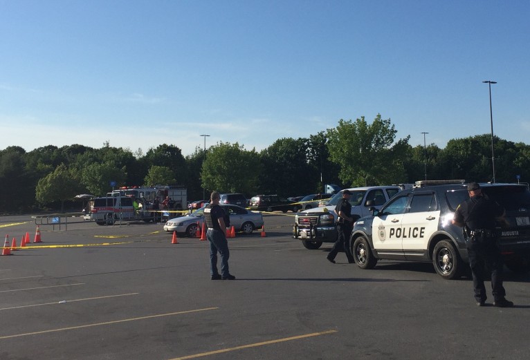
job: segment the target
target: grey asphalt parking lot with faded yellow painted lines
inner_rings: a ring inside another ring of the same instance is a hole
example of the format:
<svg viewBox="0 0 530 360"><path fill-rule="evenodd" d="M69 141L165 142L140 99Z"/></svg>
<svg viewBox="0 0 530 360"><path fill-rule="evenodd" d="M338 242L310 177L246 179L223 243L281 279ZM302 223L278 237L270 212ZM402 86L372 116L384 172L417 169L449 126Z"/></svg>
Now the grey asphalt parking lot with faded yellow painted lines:
<svg viewBox="0 0 530 360"><path fill-rule="evenodd" d="M229 240L235 281L211 281L207 242L161 225L43 225L0 257L0 359L528 358L530 276L506 270L514 308L477 307L468 278L333 265L331 244L291 238L290 213L264 218L266 237ZM0 218L17 244L35 228Z"/></svg>

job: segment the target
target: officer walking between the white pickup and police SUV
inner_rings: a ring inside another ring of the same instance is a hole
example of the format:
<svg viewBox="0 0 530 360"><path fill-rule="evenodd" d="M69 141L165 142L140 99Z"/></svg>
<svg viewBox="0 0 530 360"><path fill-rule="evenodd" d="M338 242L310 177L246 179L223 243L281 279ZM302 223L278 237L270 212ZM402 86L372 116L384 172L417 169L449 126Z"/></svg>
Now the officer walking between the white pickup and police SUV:
<svg viewBox="0 0 530 360"><path fill-rule="evenodd" d="M327 255L327 260L331 263L335 263L335 256L338 252L344 251L348 258L348 263L354 263L354 256L351 254L349 247L349 236L351 234L351 227L354 223L354 218L351 217L351 204L349 203L349 197L351 193L348 189L342 191L342 198L335 207L337 214L337 232L338 237L331 249L331 252Z"/></svg>

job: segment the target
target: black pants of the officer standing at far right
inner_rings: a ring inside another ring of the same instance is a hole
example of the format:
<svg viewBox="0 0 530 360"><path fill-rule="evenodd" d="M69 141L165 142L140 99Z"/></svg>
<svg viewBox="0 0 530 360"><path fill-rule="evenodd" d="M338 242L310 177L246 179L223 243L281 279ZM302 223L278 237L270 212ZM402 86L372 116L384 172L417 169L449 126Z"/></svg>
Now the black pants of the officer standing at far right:
<svg viewBox="0 0 530 360"><path fill-rule="evenodd" d="M468 257L471 274L473 274L473 290L477 301L486 300L484 273L486 268L491 272L491 288L495 301L504 299L506 291L502 286L502 255L496 238L476 236L468 242Z"/></svg>

